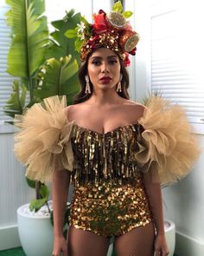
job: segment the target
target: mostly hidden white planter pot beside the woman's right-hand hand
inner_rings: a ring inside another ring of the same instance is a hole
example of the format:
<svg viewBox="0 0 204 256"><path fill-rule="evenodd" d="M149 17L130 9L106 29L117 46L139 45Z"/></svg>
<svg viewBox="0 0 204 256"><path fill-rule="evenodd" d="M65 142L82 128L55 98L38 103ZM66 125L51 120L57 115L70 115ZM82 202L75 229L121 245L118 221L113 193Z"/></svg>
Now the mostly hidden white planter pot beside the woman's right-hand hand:
<svg viewBox="0 0 204 256"><path fill-rule="evenodd" d="M171 220L164 220L165 236L169 246L169 256L175 252L175 223Z"/></svg>

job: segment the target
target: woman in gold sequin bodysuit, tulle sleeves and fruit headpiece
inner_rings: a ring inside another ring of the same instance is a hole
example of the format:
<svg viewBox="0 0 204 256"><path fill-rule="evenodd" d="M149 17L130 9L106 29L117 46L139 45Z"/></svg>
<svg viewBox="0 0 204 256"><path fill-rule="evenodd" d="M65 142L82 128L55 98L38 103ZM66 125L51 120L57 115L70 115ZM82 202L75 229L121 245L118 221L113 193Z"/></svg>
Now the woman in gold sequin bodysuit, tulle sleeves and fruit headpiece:
<svg viewBox="0 0 204 256"><path fill-rule="evenodd" d="M45 99L46 108L35 104L16 135L16 155L29 163L26 175L53 179L54 256L104 256L112 236L118 256L169 254L160 187L188 173L197 149L179 106L153 98L146 108L129 100L124 66L130 64L128 54L135 54L138 36L123 23L119 13L100 10L94 16L91 36L81 46L82 88L75 104L66 108L66 98L58 96ZM65 240L70 183L74 192Z"/></svg>

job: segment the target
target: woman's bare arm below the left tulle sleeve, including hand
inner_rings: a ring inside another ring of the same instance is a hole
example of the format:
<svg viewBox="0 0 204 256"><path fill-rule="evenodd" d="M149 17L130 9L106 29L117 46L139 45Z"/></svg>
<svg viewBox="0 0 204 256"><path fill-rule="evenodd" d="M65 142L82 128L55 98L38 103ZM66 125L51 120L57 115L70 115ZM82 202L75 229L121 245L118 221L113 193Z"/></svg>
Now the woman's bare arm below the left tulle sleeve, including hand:
<svg viewBox="0 0 204 256"><path fill-rule="evenodd" d="M54 209L54 249L53 255L67 256L67 242L63 236L63 224L69 189L70 173L67 170L57 170L53 174L53 209Z"/></svg>

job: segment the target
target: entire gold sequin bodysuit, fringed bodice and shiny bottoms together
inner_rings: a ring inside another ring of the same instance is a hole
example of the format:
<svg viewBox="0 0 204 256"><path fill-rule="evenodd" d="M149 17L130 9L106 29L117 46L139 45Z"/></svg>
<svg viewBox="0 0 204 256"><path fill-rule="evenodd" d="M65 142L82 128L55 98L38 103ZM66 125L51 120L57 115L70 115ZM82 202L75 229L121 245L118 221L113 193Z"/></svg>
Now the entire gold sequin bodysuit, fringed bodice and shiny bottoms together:
<svg viewBox="0 0 204 256"><path fill-rule="evenodd" d="M140 128L136 123L99 134L74 126L71 226L107 237L152 221L133 157Z"/></svg>

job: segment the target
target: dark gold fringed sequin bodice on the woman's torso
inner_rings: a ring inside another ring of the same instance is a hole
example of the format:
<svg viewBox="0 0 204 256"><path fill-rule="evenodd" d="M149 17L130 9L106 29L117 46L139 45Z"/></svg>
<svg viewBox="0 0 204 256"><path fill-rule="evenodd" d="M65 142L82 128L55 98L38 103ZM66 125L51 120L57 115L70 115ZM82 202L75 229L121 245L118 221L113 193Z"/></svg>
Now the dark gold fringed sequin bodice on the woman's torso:
<svg viewBox="0 0 204 256"><path fill-rule="evenodd" d="M74 124L73 184L136 180L138 166L134 154L139 151L136 141L140 139L141 129L141 125L135 123L100 134Z"/></svg>

